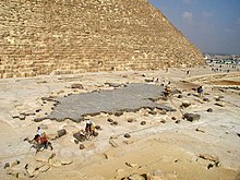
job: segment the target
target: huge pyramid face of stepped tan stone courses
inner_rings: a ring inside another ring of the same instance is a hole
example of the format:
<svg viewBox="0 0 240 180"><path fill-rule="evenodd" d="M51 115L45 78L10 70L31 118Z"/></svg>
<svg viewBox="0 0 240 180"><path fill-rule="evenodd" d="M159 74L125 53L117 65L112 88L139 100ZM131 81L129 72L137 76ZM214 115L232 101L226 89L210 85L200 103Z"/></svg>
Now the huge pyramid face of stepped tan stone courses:
<svg viewBox="0 0 240 180"><path fill-rule="evenodd" d="M0 77L197 65L146 0L1 0Z"/></svg>

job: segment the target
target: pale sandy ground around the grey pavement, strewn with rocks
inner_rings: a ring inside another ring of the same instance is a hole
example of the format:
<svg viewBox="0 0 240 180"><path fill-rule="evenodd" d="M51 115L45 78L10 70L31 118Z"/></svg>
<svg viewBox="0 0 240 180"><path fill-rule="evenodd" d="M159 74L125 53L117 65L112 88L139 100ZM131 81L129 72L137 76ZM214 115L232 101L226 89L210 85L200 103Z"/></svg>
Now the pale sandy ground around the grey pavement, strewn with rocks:
<svg viewBox="0 0 240 180"><path fill-rule="evenodd" d="M228 69L230 73L225 72ZM169 69L0 80L0 179L240 179L240 72L227 65L221 72L213 72L208 65L188 70L190 74L184 69ZM146 82L153 77L158 82ZM33 121L49 115L53 107L55 101L44 101L43 97L113 89L106 83L160 85L169 81L172 91L181 92L181 98L178 93L157 103L177 111L142 108L122 116L88 116L101 129L98 136L79 144L73 133L84 129L85 122ZM84 88L71 88L75 83ZM204 87L203 97L192 89L199 85ZM190 106L181 108L182 103ZM207 112L209 108L213 112ZM182 119L185 112L201 118L187 121ZM111 125L109 118L118 124ZM36 155L23 140L33 137L38 125L49 139L60 129L68 134L51 140L52 152ZM125 133L131 137L124 137ZM80 144L85 148L80 149ZM56 156L50 159L52 153ZM14 165L16 159L19 165ZM4 169L7 163L11 168Z"/></svg>

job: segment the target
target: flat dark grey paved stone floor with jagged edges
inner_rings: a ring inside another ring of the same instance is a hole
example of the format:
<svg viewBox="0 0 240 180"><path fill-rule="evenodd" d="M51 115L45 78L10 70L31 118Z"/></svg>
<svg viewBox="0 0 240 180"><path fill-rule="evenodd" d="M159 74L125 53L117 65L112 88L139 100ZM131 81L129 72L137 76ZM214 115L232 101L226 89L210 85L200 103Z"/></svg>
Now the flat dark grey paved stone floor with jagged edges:
<svg viewBox="0 0 240 180"><path fill-rule="evenodd" d="M70 95L59 98L59 104L49 115L49 119L81 121L86 115L100 112L136 111L141 108L158 108L167 111L172 108L154 100L163 96L163 86L153 84L128 84L112 91L99 91Z"/></svg>

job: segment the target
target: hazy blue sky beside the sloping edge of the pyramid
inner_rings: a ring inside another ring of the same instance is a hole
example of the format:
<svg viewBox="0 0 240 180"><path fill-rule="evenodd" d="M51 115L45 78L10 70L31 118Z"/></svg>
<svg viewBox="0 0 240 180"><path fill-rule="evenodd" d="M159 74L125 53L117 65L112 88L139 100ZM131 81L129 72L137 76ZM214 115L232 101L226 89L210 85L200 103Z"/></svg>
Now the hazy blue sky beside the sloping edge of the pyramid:
<svg viewBox="0 0 240 180"><path fill-rule="evenodd" d="M202 52L240 55L240 0L148 0Z"/></svg>

